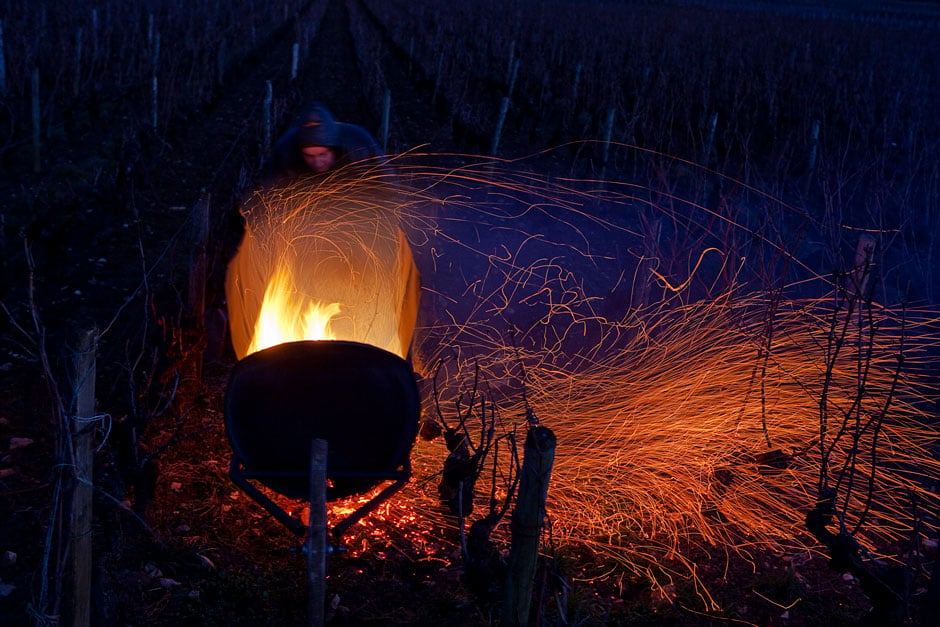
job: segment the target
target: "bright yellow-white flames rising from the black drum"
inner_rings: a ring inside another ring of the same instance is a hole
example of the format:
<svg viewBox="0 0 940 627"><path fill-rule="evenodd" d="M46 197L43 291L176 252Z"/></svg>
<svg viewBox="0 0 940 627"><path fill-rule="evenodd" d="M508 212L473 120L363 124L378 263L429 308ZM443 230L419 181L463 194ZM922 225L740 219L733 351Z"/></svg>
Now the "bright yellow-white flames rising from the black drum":
<svg viewBox="0 0 940 627"><path fill-rule="evenodd" d="M264 290L248 352L297 340L335 340L331 322L339 313L339 303L325 304L299 293L290 268L281 265Z"/></svg>

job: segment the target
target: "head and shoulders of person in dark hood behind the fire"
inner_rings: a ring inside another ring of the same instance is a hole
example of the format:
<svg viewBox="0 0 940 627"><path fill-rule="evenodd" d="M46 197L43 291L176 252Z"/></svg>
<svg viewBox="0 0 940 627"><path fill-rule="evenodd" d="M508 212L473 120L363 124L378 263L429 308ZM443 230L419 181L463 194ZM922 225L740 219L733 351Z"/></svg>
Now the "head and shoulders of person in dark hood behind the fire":
<svg viewBox="0 0 940 627"><path fill-rule="evenodd" d="M269 183L289 181L381 156L378 143L366 129L337 122L322 103L313 102L274 144L262 179Z"/></svg>

